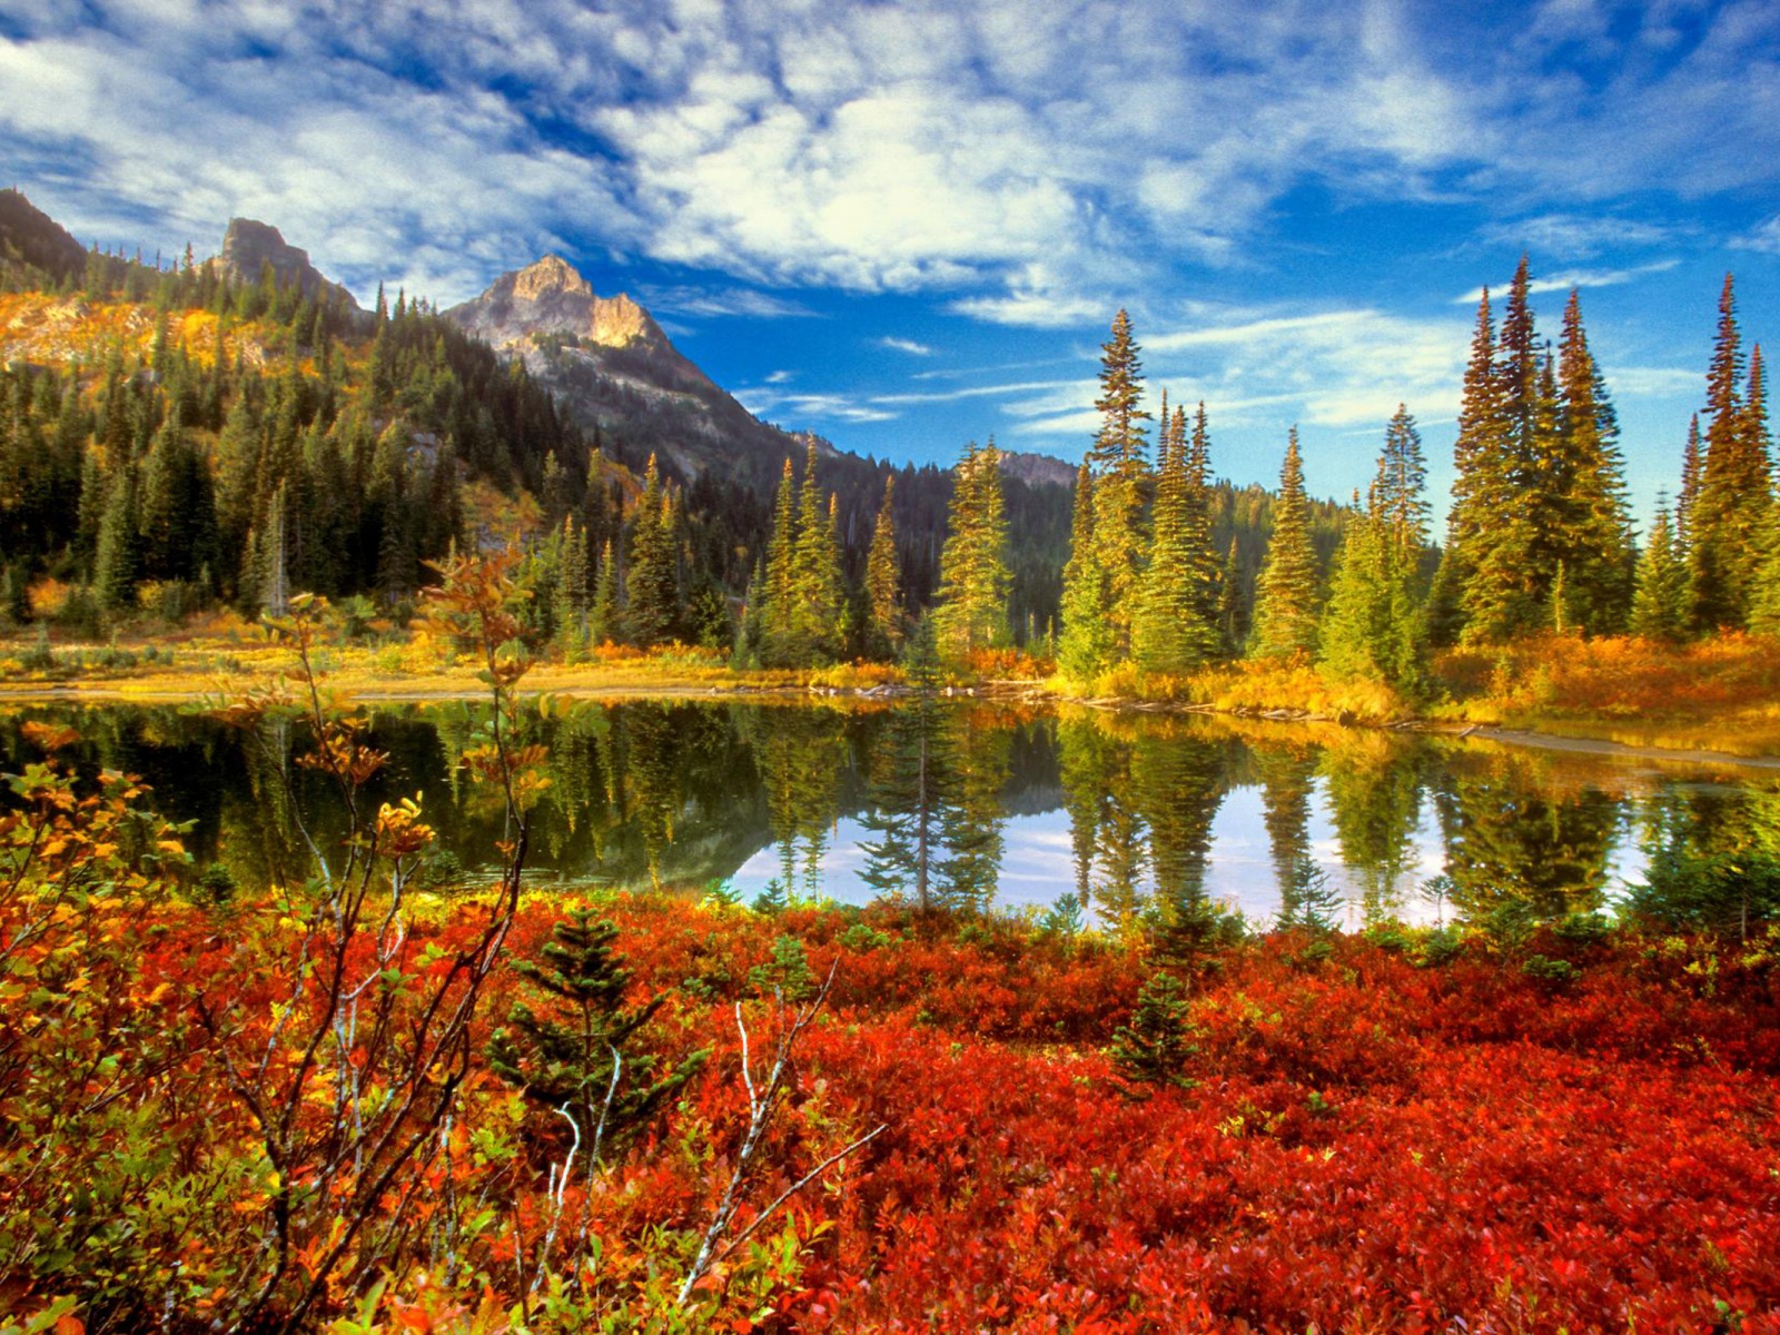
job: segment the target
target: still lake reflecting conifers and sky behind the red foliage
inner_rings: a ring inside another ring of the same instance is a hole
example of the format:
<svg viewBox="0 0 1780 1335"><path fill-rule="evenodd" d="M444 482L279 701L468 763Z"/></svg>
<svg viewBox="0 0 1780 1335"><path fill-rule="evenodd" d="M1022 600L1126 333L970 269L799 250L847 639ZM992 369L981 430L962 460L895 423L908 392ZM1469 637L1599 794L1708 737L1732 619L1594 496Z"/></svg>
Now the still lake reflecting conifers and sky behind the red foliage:
<svg viewBox="0 0 1780 1335"><path fill-rule="evenodd" d="M295 815L322 847L342 813L294 758L301 730L237 732L178 708L0 712L0 769L34 758L20 724L64 723L84 774L141 774L199 865L239 886L301 881ZM365 712L388 751L374 801L424 794L434 879L495 860L500 810L461 778L472 707ZM1524 899L1611 908L1652 849L1780 844L1780 780L1495 742L1205 716L981 703L582 703L539 719L550 787L534 883L742 899L878 894L999 910L1073 894L1104 918L1205 894L1255 920L1307 885L1349 927L1436 922ZM329 838L331 837L331 838Z"/></svg>

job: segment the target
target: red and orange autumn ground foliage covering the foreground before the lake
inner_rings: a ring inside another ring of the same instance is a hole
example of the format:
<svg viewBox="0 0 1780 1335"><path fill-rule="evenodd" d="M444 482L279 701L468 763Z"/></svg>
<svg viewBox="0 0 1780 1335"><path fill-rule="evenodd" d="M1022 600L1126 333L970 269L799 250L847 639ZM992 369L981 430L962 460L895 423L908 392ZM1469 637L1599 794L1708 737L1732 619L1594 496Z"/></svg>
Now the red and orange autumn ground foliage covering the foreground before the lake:
<svg viewBox="0 0 1780 1335"><path fill-rule="evenodd" d="M509 956L536 958L561 910L532 892ZM1148 975L1141 947L892 910L765 917L616 895L602 911L621 929L634 993L671 990L648 1031L657 1050L714 1056L653 1132L566 1191L570 1212L587 1200L600 1239L580 1280L593 1315L546 1319L525 1299L561 1141L550 1109L523 1107L477 1066L449 1153L384 1203L411 1230L372 1303L393 1319L384 1328L598 1330L598 1314L611 1330L673 1328L664 1294L746 1121L737 1004L758 1061L769 1018L749 974L797 936L835 984L742 1218L886 1129L799 1193L765 1246L719 1266L680 1328L1780 1330L1780 970L1764 952L1618 938L1575 952L1581 974L1554 984L1481 940L1417 967L1365 938L1339 938L1326 958L1262 938L1225 951L1193 990L1196 1086L1132 1096L1107 1043ZM417 922L415 967L445 968L479 922L472 904ZM251 1164L230 1177L228 1146L251 1146L249 1121L190 1016L199 997L215 1013L228 993L274 1025L295 942L271 904L221 920L167 902L130 924L126 990L103 1024L162 1054L142 1084L166 1148L155 1171L178 1164L210 1194L201 1214L162 1218L166 1237L139 1237L135 1271L107 1292L162 1283L174 1260L190 1276L251 1255L267 1185ZM504 968L477 1050L522 995ZM64 1175L84 1171L77 1159ZM0 1216L36 1212L53 1234L61 1189L80 1184L44 1185L0 1184ZM481 1223L450 1234L447 1282L427 1230L452 1212ZM0 1308L80 1292L78 1262L44 1271L44 1251L32 1260L11 1237ZM201 1323L205 1287L180 1292ZM333 1294L319 1317L344 1321L358 1303ZM119 1328L101 1303L71 1310L89 1330Z"/></svg>

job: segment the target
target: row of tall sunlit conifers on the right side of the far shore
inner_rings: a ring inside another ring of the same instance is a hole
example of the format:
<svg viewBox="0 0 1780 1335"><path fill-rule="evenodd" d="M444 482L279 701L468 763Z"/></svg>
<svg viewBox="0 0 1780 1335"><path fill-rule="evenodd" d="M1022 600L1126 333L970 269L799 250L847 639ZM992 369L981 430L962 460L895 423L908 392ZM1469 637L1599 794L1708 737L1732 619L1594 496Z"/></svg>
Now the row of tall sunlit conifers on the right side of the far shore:
<svg viewBox="0 0 1780 1335"><path fill-rule="evenodd" d="M1727 276L1673 509L1639 550L1620 427L1570 292L1556 349L1541 340L1522 258L1497 324L1488 290L1465 368L1445 543L1429 538L1426 457L1404 406L1339 545L1315 541L1294 427L1271 536L1242 589L1242 552L1214 532L1205 406L1166 393L1152 418L1130 319L1102 347L1102 425L1082 461L1063 577L1059 666L1189 673L1219 659L1305 655L1333 680L1428 691L1428 655L1534 632L1686 639L1780 634L1780 532L1760 347L1744 358ZM1146 422L1155 424L1150 461Z"/></svg>

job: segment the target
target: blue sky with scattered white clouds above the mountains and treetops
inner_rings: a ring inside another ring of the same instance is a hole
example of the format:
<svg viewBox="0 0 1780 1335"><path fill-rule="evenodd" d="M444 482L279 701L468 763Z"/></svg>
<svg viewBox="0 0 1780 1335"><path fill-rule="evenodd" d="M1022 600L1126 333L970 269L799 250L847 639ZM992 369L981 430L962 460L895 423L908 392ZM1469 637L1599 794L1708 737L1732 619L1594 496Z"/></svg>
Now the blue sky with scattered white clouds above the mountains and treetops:
<svg viewBox="0 0 1780 1335"><path fill-rule="evenodd" d="M1780 5L0 0L0 166L82 240L279 226L441 304L545 251L767 420L1068 459L1129 306L1218 472L1436 484L1476 288L1582 310L1639 516L1718 288L1780 342Z"/></svg>

